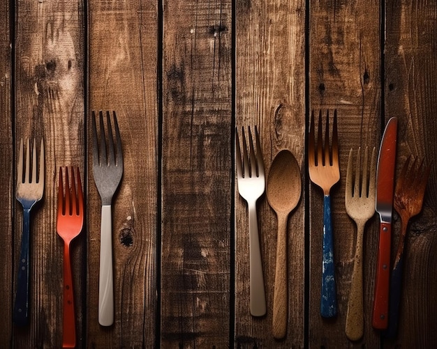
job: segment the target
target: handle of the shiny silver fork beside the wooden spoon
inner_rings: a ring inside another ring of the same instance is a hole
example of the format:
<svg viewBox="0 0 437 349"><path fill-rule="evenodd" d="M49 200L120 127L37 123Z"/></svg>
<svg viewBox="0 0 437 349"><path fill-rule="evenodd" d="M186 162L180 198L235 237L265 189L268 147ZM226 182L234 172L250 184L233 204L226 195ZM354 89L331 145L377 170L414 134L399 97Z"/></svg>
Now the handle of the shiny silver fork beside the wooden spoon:
<svg viewBox="0 0 437 349"><path fill-rule="evenodd" d="M264 277L262 274L260 236L258 235L258 219L256 203L248 204L249 210L249 254L250 254L250 308L253 316L266 313Z"/></svg>

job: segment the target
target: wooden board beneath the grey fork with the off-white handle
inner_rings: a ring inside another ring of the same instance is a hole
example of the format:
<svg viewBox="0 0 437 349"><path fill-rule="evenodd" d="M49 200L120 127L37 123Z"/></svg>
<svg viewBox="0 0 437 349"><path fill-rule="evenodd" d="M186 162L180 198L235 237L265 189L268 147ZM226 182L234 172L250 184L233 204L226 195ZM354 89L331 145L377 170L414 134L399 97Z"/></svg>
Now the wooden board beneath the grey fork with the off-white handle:
<svg viewBox="0 0 437 349"><path fill-rule="evenodd" d="M114 324L98 323L101 199L89 132L87 336L97 348L154 348L156 316L157 7L89 1L89 111L114 110L124 173L112 199Z"/></svg>

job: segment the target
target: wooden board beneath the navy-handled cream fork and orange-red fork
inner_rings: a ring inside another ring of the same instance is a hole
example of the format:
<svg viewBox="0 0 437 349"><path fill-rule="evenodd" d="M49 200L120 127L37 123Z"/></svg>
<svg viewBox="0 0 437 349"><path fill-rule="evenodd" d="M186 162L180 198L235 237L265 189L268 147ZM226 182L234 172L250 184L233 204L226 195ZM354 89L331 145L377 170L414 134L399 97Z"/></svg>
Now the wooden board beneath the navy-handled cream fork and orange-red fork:
<svg viewBox="0 0 437 349"><path fill-rule="evenodd" d="M62 261L56 232L59 166L79 166L84 176L82 3L17 1L15 16L15 161L24 141L45 148L45 190L31 212L29 325L14 327L17 348L62 344ZM15 183L14 183L15 184ZM15 259L20 256L22 208L15 204ZM72 244L77 344L82 345L81 261L84 233ZM14 261L16 286L18 261ZM15 288L14 288L15 298Z"/></svg>

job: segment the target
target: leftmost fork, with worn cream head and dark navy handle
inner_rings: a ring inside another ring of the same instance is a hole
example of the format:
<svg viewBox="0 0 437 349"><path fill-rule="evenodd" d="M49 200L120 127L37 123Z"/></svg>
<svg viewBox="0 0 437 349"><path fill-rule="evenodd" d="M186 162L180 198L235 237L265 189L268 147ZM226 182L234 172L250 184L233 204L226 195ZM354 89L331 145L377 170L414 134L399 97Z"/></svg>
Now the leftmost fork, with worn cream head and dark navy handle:
<svg viewBox="0 0 437 349"><path fill-rule="evenodd" d="M17 295L13 320L20 326L27 325L29 319L29 240L30 211L35 203L40 201L44 193L44 141L41 139L39 160L36 156L36 141L32 151L32 166L30 166L30 142L27 139L26 159L23 160L23 139L20 141L20 154L17 165L17 189L15 197L23 208L23 227L21 240L20 263L18 265ZM26 164L24 164L24 161ZM37 167L39 173L37 178ZM32 168L32 176L30 176ZM24 178L23 178L24 169Z"/></svg>

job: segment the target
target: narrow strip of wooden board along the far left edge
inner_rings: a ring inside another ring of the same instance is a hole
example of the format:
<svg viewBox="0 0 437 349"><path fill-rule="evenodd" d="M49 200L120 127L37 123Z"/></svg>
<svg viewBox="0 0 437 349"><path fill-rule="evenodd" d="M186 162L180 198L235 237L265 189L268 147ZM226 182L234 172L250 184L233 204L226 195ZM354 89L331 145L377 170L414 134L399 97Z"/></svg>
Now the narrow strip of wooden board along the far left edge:
<svg viewBox="0 0 437 349"><path fill-rule="evenodd" d="M13 201L13 141L12 141L12 114L10 101L10 72L11 72L11 48L10 48L10 3L0 2L1 25L0 25L0 130L3 130L0 139L0 177L3 178L0 187L0 318L2 329L0 333L0 346L9 347L12 340L12 290L13 290L13 224L12 212Z"/></svg>

